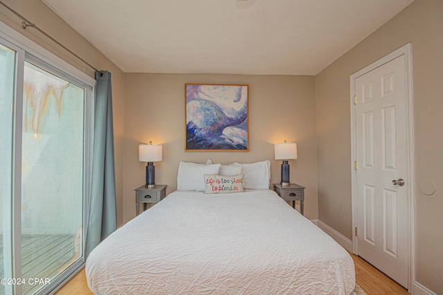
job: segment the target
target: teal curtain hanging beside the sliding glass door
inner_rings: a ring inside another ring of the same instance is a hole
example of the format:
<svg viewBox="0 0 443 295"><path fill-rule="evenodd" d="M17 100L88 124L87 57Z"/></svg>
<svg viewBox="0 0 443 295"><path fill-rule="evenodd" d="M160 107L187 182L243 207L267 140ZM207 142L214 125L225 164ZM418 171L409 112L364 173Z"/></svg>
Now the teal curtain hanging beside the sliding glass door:
<svg viewBox="0 0 443 295"><path fill-rule="evenodd" d="M91 199L85 257L116 230L116 183L111 73L96 72Z"/></svg>

